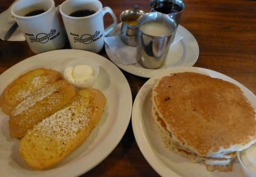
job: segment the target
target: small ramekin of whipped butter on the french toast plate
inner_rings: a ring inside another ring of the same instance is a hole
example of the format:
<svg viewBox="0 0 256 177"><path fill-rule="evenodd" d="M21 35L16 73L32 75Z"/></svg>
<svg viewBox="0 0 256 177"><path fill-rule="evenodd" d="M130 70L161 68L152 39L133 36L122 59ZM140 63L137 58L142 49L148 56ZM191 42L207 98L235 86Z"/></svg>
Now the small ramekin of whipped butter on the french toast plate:
<svg viewBox="0 0 256 177"><path fill-rule="evenodd" d="M64 77L74 86L81 89L93 87L98 76L99 66L90 59L76 59L64 69Z"/></svg>

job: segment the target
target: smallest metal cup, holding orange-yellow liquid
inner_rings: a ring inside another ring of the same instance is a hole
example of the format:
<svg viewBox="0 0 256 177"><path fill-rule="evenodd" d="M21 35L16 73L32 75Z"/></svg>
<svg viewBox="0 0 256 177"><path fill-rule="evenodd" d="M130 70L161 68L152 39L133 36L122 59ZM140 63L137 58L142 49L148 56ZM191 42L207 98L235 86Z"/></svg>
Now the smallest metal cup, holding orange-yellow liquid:
<svg viewBox="0 0 256 177"><path fill-rule="evenodd" d="M134 9L128 9L121 13L121 39L124 44L132 47L135 47L137 45L137 24L128 24L126 20L133 19L135 22L137 22L137 19L143 14L145 14L145 11L138 9L138 6L136 5L134 6Z"/></svg>

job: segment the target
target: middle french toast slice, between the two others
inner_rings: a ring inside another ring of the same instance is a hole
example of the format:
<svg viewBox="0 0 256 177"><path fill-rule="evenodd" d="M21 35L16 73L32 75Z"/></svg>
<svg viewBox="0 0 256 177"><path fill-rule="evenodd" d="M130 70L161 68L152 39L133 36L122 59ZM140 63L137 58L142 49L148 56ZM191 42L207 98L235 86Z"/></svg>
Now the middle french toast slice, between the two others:
<svg viewBox="0 0 256 177"><path fill-rule="evenodd" d="M12 138L24 136L28 129L62 109L72 99L75 92L75 87L63 79L45 85L28 96L11 111L9 116L10 136Z"/></svg>

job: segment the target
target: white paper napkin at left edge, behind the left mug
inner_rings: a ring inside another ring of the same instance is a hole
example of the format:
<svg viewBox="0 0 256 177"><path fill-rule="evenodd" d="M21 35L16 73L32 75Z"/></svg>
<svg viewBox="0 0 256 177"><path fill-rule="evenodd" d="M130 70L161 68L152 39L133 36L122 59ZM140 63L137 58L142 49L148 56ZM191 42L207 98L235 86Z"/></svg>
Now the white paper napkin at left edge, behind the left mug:
<svg viewBox="0 0 256 177"><path fill-rule="evenodd" d="M19 0L15 0L17 2ZM19 27L15 30L15 32L11 35L9 39L6 39L6 34L10 30L10 28L16 23L15 18L11 17L11 6L4 12L0 13L0 39L8 40L8 41L25 41L25 37Z"/></svg>

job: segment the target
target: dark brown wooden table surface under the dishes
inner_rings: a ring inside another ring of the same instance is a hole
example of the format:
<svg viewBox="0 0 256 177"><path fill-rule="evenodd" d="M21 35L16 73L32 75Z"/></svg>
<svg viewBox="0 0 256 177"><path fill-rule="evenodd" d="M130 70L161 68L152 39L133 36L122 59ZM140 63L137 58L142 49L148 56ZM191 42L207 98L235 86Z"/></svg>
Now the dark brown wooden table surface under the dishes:
<svg viewBox="0 0 256 177"><path fill-rule="evenodd" d="M56 6L63 0L55 0ZM117 19L122 11L139 5L149 12L148 0L101 0ZM232 77L256 94L256 1L253 0L186 0L180 25L189 30L199 45L194 66L208 68ZM11 0L1 0L0 13ZM111 23L104 17L105 25ZM119 20L120 22L120 20ZM1 26L0 26L1 28ZM69 43L64 48L70 48ZM105 49L98 54L106 57ZM20 61L35 55L26 41L0 40L0 74ZM132 90L133 100L147 78L122 71ZM159 176L143 157L134 138L131 121L121 142L110 155L82 176Z"/></svg>

